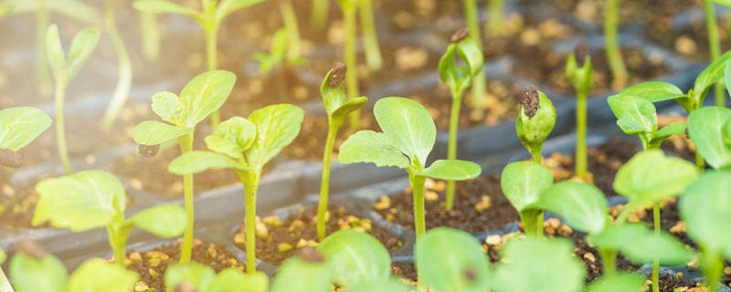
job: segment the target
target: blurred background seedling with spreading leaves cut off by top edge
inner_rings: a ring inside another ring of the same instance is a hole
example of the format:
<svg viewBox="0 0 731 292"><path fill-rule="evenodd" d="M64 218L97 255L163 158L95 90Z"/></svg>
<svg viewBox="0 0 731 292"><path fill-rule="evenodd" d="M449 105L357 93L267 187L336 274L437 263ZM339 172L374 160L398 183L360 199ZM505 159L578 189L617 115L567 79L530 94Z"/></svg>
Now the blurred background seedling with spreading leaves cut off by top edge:
<svg viewBox="0 0 731 292"><path fill-rule="evenodd" d="M206 33L206 59L208 71L216 70L217 34L221 22L237 10L255 5L264 0L200 0L203 11L196 11L166 0L137 0L133 6L145 13L176 14L188 16L195 20ZM211 128L216 129L221 120L218 110L211 113Z"/></svg>

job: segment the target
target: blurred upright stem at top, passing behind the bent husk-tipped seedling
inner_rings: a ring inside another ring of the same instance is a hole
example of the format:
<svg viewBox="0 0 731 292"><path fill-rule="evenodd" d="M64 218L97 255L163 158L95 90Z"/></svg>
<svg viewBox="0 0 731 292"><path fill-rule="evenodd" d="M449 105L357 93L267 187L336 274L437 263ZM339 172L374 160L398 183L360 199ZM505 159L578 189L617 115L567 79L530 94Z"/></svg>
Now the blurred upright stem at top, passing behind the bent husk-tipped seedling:
<svg viewBox="0 0 731 292"><path fill-rule="evenodd" d="M345 74L348 100L358 97L358 64L355 57L355 8L343 9L345 22L344 59L348 74ZM349 116L351 132L360 128L360 110L354 110Z"/></svg>

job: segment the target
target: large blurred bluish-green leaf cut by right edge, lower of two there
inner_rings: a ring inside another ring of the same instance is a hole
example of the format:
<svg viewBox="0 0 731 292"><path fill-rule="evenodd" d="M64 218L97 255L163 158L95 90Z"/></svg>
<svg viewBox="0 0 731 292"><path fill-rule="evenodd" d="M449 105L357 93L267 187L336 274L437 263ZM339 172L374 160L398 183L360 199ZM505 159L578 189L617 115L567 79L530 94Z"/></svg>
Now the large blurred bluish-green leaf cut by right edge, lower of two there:
<svg viewBox="0 0 731 292"><path fill-rule="evenodd" d="M731 172L703 173L681 196L688 236L709 251L731 257Z"/></svg>

